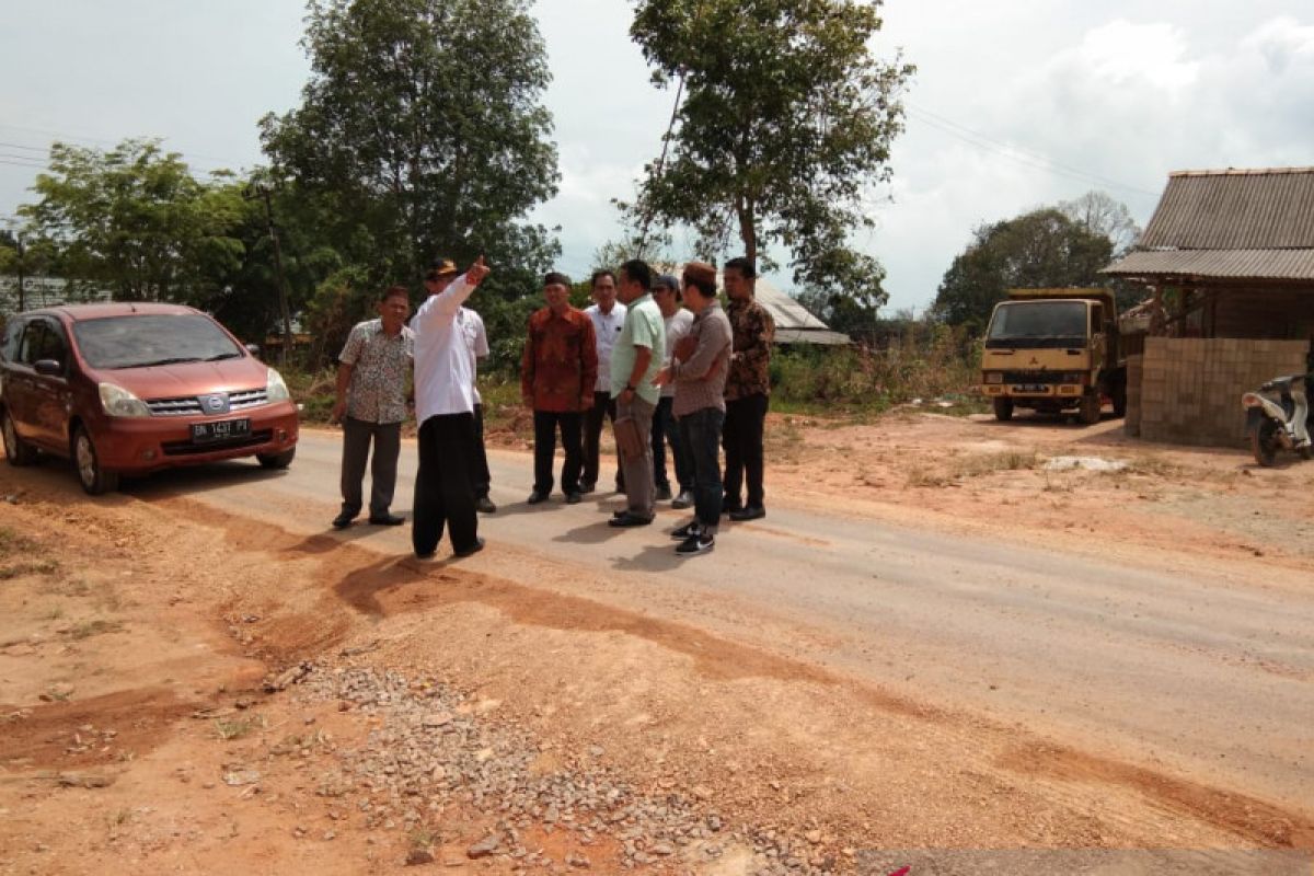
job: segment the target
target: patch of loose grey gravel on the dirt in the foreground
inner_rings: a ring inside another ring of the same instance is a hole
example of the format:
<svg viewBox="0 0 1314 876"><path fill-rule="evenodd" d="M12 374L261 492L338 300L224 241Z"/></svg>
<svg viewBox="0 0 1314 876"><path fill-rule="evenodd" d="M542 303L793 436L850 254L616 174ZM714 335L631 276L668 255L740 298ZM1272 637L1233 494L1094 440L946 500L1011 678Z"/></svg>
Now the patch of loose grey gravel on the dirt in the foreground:
<svg viewBox="0 0 1314 876"><path fill-rule="evenodd" d="M381 720L364 747L335 750L338 763L317 785L321 796L353 809L367 829L406 831L424 844L435 817L463 804L497 818L495 829L466 850L472 859L506 855L523 867L595 865L583 852L552 860L526 839L537 827L570 831L585 848L606 838L625 868L696 869L731 848L752 848L754 872L763 876L836 869L823 842L829 838L820 831L795 837L731 825L712 806L714 793L700 785L685 789L662 780L658 792L644 793L600 762L603 749L555 751L512 721L481 716L476 701L447 686L368 667L307 668L297 679L302 696L336 700L340 711ZM423 854L415 858L423 862ZM597 865L611 865L610 854Z"/></svg>

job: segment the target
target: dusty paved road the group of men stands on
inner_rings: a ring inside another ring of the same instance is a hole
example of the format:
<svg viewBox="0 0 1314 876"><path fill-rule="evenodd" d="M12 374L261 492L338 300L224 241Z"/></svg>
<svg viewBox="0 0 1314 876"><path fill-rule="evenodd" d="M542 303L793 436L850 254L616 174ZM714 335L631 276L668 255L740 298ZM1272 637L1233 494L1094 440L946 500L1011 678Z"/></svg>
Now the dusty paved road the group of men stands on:
<svg viewBox="0 0 1314 876"><path fill-rule="evenodd" d="M240 462L126 490L147 500L185 494L294 533L326 532L336 514L339 440L304 432L296 462L277 475ZM650 528L611 529L614 496L565 506L555 495L531 508L530 456L494 452L490 462L499 512L481 521L489 550L464 567L533 586L528 553L576 566L581 580L608 582L593 598L702 617L720 634L753 638L758 616L773 629L796 624L808 644L781 650L799 659L1084 751L1311 806L1314 587L1238 580L1208 561L1164 573L1043 544L804 512L788 496L773 498L766 520L723 531L714 553L678 558L666 532L687 519L682 512L666 510ZM410 507L414 464L406 443L394 511ZM610 479L604 466L602 481ZM410 549L409 527L357 525L342 537L384 553Z"/></svg>

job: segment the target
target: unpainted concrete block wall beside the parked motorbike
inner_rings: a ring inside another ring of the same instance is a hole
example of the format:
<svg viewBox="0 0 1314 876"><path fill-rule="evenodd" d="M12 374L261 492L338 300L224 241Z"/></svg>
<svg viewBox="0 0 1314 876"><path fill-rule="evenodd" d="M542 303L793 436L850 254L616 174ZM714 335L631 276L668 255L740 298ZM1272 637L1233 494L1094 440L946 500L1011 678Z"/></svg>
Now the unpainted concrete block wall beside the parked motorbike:
<svg viewBox="0 0 1314 876"><path fill-rule="evenodd" d="M1138 393L1127 368L1127 433L1131 398L1135 423L1147 441L1243 447L1243 393L1281 374L1305 372L1307 340L1244 338L1147 338L1141 356Z"/></svg>

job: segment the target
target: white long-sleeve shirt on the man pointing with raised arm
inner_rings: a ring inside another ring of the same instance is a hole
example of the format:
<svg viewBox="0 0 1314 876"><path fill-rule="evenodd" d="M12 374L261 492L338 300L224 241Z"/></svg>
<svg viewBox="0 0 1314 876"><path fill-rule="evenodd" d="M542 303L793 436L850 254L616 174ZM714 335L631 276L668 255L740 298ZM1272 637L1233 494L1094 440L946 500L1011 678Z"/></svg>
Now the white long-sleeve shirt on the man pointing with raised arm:
<svg viewBox="0 0 1314 876"><path fill-rule="evenodd" d="M474 411L474 356L456 314L474 286L463 273L415 311L415 422Z"/></svg>

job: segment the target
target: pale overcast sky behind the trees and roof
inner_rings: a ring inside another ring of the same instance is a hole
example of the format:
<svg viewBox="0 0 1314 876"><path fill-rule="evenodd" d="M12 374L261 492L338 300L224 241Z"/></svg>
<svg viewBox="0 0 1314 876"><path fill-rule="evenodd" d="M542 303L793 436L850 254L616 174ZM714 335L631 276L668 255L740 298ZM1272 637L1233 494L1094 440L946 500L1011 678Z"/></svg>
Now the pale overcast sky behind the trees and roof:
<svg viewBox="0 0 1314 876"><path fill-rule="evenodd" d="M293 0L4 0L0 222L53 139L162 137L198 171L261 162L256 120L297 105ZM576 276L618 235L608 201L656 156L624 0L539 0L555 81L561 226ZM857 244L890 309L924 309L974 227L1101 189L1143 226L1169 171L1314 165L1311 0L888 0L875 49L917 64L888 200ZM683 255L678 253L677 255ZM778 278L788 286L787 277Z"/></svg>

